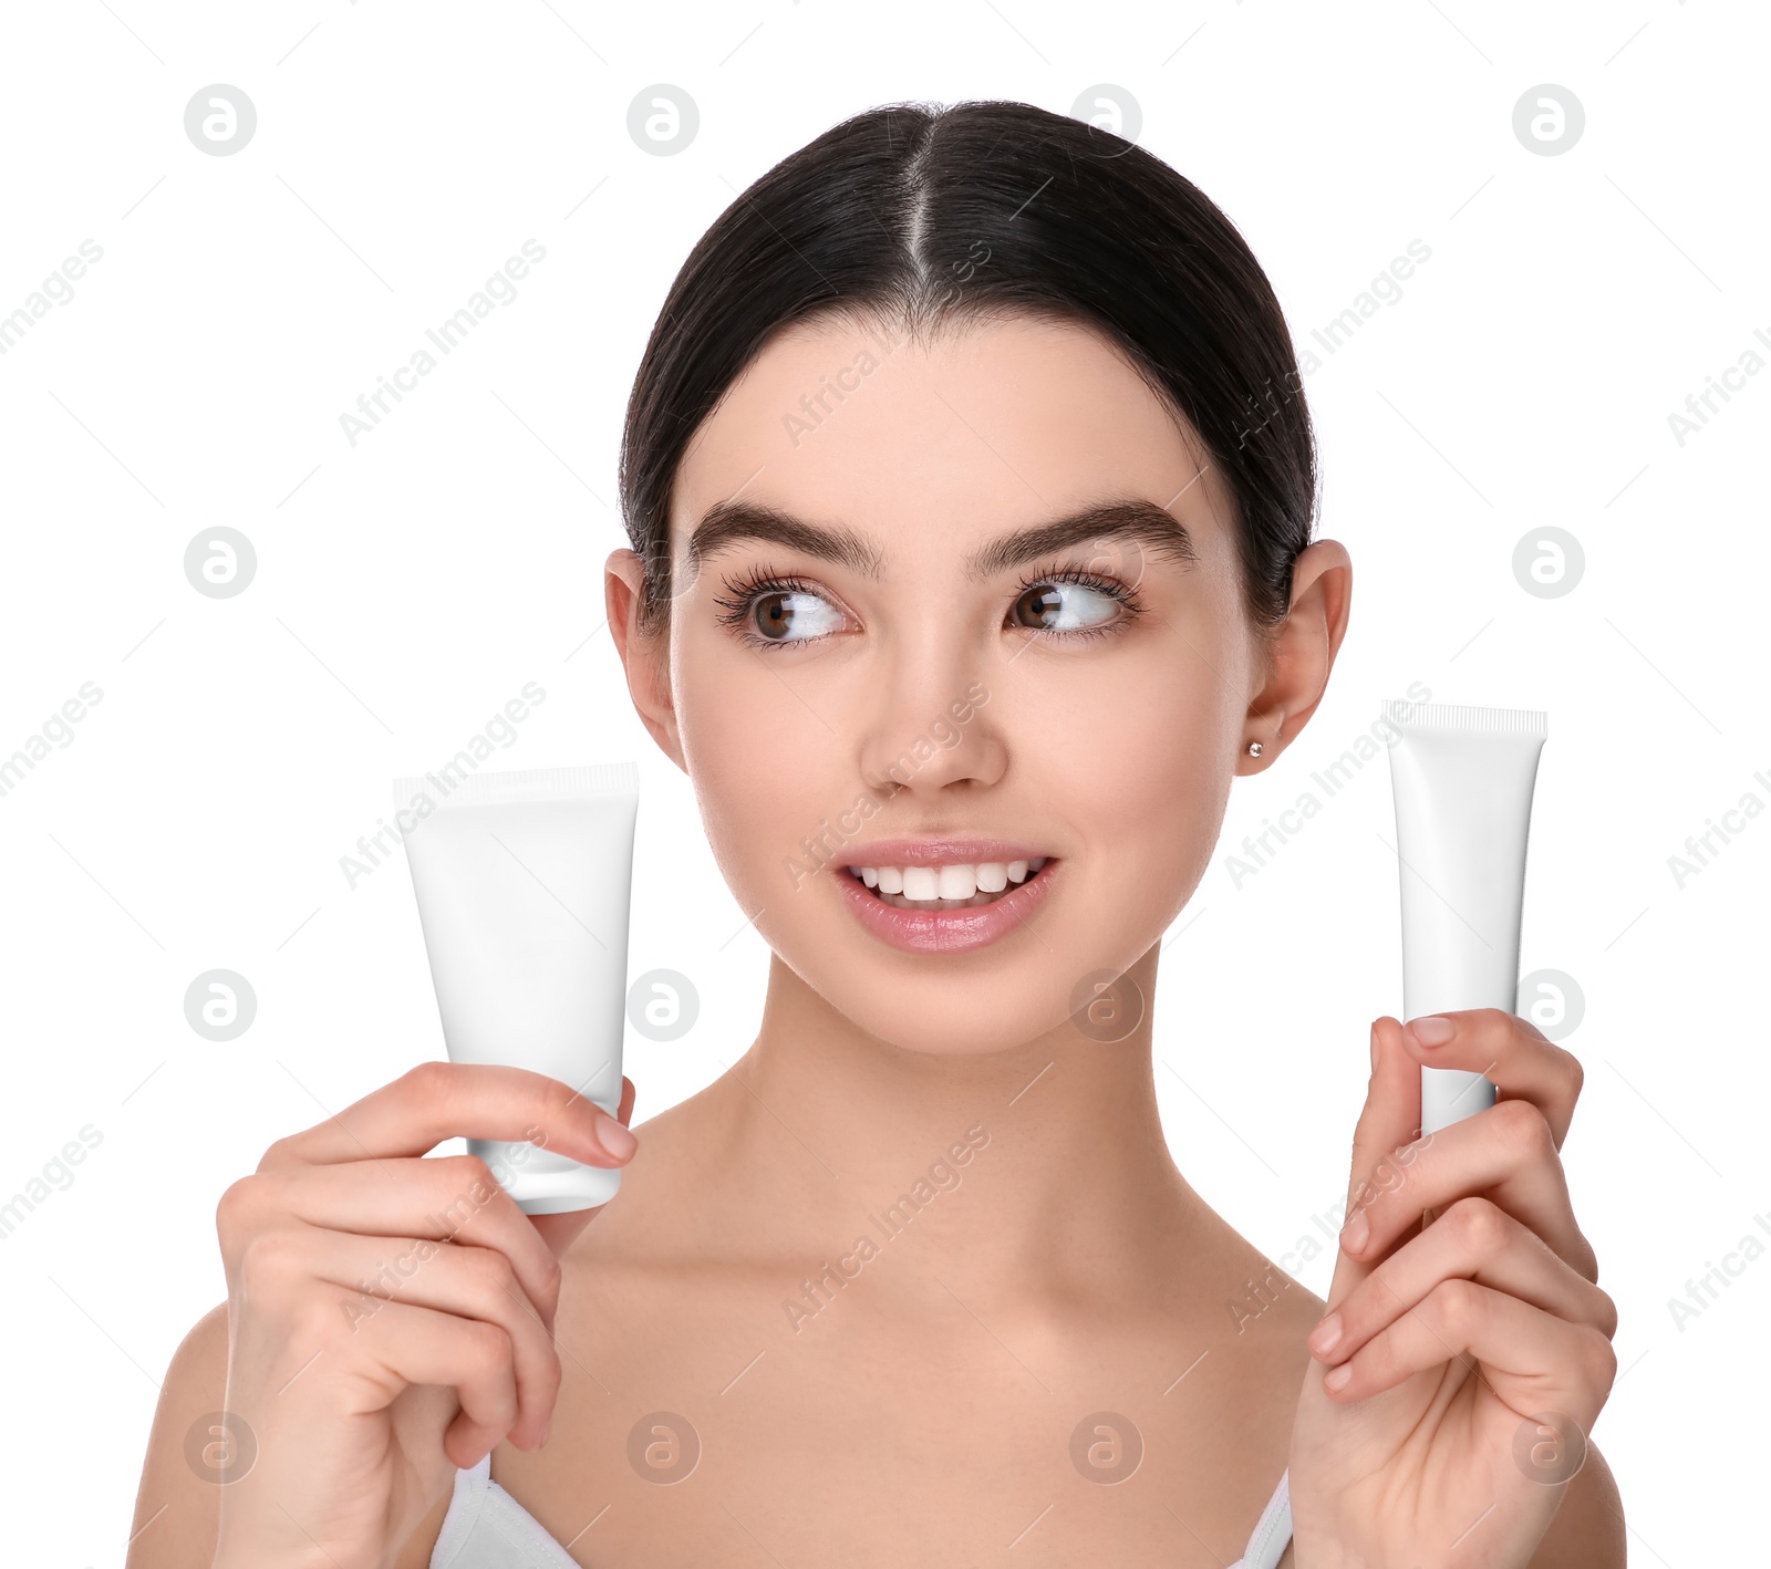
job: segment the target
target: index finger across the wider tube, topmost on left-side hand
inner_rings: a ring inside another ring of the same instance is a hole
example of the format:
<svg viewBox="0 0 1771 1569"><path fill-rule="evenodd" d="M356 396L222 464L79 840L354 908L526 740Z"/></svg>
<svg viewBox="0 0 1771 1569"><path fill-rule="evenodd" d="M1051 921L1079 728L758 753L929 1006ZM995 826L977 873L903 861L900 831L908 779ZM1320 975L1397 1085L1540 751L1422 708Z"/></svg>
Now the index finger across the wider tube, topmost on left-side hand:
<svg viewBox="0 0 1771 1569"><path fill-rule="evenodd" d="M420 1063L324 1123L280 1139L259 1169L414 1156L457 1137L530 1140L586 1165L622 1165L602 1142L604 1123L615 1119L545 1073Z"/></svg>

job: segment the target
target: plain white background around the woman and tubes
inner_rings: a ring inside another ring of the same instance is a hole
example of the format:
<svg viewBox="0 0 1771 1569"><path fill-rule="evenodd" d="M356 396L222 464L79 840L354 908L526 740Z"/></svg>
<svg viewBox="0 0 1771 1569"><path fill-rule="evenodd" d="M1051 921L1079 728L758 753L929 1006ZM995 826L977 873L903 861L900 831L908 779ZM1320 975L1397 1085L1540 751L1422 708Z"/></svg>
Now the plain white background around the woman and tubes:
<svg viewBox="0 0 1771 1569"><path fill-rule="evenodd" d="M9 1558L120 1564L156 1381L225 1296L218 1195L273 1139L441 1055L404 857L354 889L338 861L391 776L439 765L526 682L545 703L487 767L638 758L630 972L701 995L685 1040L630 1036L638 1117L746 1048L767 951L600 627L645 336L719 211L836 120L905 99L1071 112L1094 83L1243 230L1300 349L1408 241L1431 248L1307 384L1353 623L1164 951L1176 1158L1279 1257L1344 1194L1367 1025L1401 1006L1381 758L1240 887L1224 855L1410 682L1546 708L1521 969L1587 999L1564 1155L1622 1312L1596 1440L1633 1560L1762 1537L1743 1500L1771 1259L1682 1330L1667 1305L1771 1224L1771 815L1682 887L1668 870L1744 792L1771 804L1771 375L1682 444L1668 429L1771 335L1762 7L117 0L12 7L5 51L0 313L103 246L0 358L0 754L103 689L0 799L0 1199L81 1126L103 1137L0 1241ZM209 83L257 106L237 154L184 133ZM653 83L700 108L677 156L627 131ZM1585 106L1560 156L1512 131L1539 83ZM338 416L530 237L547 255L521 296L352 448ZM182 558L220 524L259 565L214 600ZM1511 567L1546 524L1585 549L1560 599ZM230 1043L182 1011L218 967L259 1001ZM1303 1280L1325 1291L1326 1266Z"/></svg>

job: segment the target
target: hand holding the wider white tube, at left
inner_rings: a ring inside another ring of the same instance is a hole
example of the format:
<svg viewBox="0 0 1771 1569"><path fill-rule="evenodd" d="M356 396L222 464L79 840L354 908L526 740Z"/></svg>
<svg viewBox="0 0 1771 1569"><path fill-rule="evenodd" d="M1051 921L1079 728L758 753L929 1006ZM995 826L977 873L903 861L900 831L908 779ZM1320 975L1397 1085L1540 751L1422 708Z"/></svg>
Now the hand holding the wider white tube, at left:
<svg viewBox="0 0 1771 1569"><path fill-rule="evenodd" d="M623 1078L623 1128L632 1107ZM384 1569L457 1466L542 1445L560 1257L597 1211L531 1218L476 1156L420 1156L530 1139L623 1165L599 1125L615 1121L542 1073L421 1063L221 1195L225 1406L257 1459L221 1489L214 1569Z"/></svg>

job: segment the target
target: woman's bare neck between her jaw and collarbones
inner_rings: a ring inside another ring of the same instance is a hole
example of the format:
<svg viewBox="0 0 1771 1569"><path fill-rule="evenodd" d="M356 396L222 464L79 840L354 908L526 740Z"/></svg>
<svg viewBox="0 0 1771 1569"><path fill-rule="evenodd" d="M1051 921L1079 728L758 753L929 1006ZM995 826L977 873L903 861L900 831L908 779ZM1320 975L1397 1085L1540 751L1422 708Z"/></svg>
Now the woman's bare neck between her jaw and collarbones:
<svg viewBox="0 0 1771 1569"><path fill-rule="evenodd" d="M870 1036L772 960L763 1024L731 1071L728 1188L772 1250L816 1270L859 1238L953 1266L999 1300L1148 1284L1151 1241L1213 1220L1169 1156L1151 1075L1156 951L1125 1040L1068 1020L1009 1050L937 1055Z"/></svg>

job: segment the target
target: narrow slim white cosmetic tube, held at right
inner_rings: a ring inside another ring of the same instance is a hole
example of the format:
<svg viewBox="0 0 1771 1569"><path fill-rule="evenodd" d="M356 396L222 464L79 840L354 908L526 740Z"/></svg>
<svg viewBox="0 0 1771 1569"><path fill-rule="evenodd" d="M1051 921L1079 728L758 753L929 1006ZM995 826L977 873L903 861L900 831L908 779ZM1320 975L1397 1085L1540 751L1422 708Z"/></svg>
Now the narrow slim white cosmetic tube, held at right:
<svg viewBox="0 0 1771 1569"><path fill-rule="evenodd" d="M1403 882L1403 1018L1518 1008L1525 838L1548 715L1383 705ZM1481 1073L1420 1070L1420 1132L1495 1103Z"/></svg>

